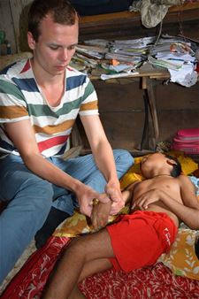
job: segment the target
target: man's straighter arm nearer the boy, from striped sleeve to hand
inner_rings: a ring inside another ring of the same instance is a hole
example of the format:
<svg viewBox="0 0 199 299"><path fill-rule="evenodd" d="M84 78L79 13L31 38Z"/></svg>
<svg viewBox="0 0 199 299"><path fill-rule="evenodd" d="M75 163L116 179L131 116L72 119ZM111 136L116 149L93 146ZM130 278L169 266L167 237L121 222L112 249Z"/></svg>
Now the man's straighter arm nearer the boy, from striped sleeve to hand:
<svg viewBox="0 0 199 299"><path fill-rule="evenodd" d="M107 140L98 115L80 116L80 119L87 134L88 142L96 160L96 165L107 181L104 191L107 195L107 200L108 197L110 197L113 202L111 214L116 214L124 207L125 203L120 191L111 145Z"/></svg>

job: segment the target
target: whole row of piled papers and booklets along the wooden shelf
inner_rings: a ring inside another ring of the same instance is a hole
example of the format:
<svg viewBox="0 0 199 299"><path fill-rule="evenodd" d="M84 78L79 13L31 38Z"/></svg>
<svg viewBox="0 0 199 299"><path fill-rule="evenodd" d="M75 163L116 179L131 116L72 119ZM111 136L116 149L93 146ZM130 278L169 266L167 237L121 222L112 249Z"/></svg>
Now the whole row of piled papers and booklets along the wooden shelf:
<svg viewBox="0 0 199 299"><path fill-rule="evenodd" d="M166 68L173 82L188 87L197 80L192 45L182 37L166 35L158 41L155 36L133 40L89 40L77 45L71 64L104 80L114 75L127 77L148 61L150 65Z"/></svg>

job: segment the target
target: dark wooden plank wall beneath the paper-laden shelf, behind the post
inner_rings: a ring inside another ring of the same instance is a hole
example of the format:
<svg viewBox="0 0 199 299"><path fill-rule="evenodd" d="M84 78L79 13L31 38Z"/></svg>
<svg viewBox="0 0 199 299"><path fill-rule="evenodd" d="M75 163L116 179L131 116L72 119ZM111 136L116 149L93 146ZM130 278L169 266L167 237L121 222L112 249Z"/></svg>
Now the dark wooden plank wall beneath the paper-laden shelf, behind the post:
<svg viewBox="0 0 199 299"><path fill-rule="evenodd" d="M177 130L199 126L199 82L191 88L157 80L155 96L159 138L172 141ZM126 84L94 81L99 97L99 111L113 148L141 149L144 102L138 80Z"/></svg>

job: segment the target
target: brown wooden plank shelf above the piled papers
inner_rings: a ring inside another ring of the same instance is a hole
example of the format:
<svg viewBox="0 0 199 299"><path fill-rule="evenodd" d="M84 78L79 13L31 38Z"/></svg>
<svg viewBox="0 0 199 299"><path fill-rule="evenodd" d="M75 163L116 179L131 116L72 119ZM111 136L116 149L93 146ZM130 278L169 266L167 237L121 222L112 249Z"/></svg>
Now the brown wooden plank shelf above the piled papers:
<svg viewBox="0 0 199 299"><path fill-rule="evenodd" d="M164 18L165 26L172 23L198 22L199 3L187 3L169 8ZM178 26L177 26L178 28ZM112 38L149 35L156 28L142 26L140 12L112 12L80 17L80 42L94 38Z"/></svg>

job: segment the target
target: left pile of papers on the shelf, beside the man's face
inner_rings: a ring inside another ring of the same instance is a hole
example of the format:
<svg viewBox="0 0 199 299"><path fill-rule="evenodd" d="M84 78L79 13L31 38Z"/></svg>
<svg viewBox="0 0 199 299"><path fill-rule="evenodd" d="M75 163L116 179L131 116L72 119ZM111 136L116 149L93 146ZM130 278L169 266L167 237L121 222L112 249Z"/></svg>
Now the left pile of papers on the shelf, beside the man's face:
<svg viewBox="0 0 199 299"><path fill-rule="evenodd" d="M76 46L73 67L88 73L131 73L147 60L150 45L155 37L134 40L89 40Z"/></svg>

